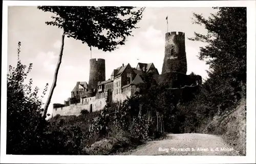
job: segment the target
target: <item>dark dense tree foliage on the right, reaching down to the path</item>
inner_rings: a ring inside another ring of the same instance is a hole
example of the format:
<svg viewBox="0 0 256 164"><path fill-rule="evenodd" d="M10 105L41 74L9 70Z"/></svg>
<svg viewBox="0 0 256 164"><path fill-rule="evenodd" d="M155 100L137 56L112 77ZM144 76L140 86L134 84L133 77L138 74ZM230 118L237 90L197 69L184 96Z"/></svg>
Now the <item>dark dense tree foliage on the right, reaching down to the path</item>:
<svg viewBox="0 0 256 164"><path fill-rule="evenodd" d="M242 97L246 98L246 8L215 8L216 14L208 19L195 14L194 23L203 25L207 35L195 33L194 41L208 43L200 48L199 59L210 67L208 79L201 86L193 101L179 106L185 122L185 132L209 133L215 128L208 126L214 116L223 116L235 108Z"/></svg>

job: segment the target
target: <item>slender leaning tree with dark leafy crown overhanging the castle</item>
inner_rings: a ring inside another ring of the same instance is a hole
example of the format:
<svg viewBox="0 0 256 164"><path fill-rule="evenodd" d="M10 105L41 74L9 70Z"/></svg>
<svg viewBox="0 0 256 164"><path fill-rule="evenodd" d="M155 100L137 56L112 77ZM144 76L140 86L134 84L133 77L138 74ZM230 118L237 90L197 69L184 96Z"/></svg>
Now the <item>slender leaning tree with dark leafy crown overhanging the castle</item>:
<svg viewBox="0 0 256 164"><path fill-rule="evenodd" d="M44 117L56 87L58 70L64 47L65 35L97 47L103 51L113 51L123 45L132 30L142 18L144 8L135 7L94 7L94 6L38 6L45 12L52 12L52 21L47 25L63 29L59 59L54 73L53 84L44 108ZM104 34L105 33L105 34Z"/></svg>

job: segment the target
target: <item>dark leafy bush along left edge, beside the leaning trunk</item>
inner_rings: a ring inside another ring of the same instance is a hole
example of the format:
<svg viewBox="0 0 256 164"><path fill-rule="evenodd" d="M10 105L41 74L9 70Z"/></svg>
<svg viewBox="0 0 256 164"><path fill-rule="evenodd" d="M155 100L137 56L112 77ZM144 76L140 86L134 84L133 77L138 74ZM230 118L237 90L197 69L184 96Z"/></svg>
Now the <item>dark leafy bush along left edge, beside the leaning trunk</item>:
<svg viewBox="0 0 256 164"><path fill-rule="evenodd" d="M7 73L7 154L34 154L41 147L45 127L41 118L43 103L38 98L39 89L32 89L32 79L24 84L32 64L27 68L20 62L20 46L18 42L17 66L9 66Z"/></svg>

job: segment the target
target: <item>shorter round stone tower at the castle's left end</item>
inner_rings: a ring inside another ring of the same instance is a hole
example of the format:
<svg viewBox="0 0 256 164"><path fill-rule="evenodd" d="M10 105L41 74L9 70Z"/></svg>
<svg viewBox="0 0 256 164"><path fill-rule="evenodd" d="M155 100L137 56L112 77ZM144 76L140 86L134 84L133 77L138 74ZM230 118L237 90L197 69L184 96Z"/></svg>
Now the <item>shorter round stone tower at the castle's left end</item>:
<svg viewBox="0 0 256 164"><path fill-rule="evenodd" d="M98 81L105 81L105 78L105 60L90 59L89 88L97 90Z"/></svg>

